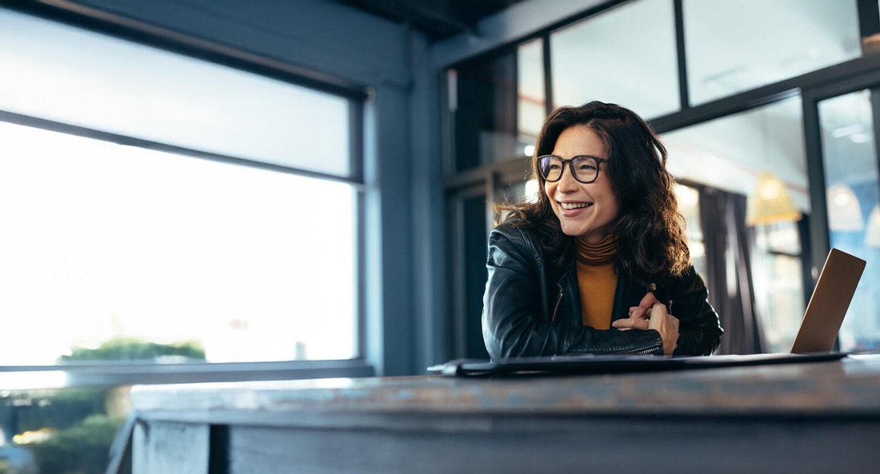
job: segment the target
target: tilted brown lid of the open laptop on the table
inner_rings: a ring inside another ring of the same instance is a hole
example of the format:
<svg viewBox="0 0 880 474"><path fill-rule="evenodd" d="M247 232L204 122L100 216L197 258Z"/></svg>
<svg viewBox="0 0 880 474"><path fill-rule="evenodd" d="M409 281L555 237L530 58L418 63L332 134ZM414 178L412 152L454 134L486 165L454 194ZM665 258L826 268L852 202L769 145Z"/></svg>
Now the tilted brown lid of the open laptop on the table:
<svg viewBox="0 0 880 474"><path fill-rule="evenodd" d="M803 314L791 352L831 352L840 324L847 315L855 287L859 285L865 261L832 248L819 273L816 288Z"/></svg>

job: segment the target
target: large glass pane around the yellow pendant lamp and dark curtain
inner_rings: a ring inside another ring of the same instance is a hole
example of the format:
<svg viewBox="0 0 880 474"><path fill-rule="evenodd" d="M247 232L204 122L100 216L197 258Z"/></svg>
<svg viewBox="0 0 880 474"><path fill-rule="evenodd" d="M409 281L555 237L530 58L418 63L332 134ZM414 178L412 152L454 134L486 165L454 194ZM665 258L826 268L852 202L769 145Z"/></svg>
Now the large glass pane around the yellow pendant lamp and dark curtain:
<svg viewBox="0 0 880 474"><path fill-rule="evenodd" d="M810 212L799 97L664 133L662 139L669 150L668 167L678 179L753 198L759 174L769 171L797 209ZM798 225L777 222L759 226L754 234L752 283L766 351L788 352L804 309ZM728 274L718 281L728 282L727 291L736 293L730 287L737 281L734 256L727 251L724 258Z"/></svg>

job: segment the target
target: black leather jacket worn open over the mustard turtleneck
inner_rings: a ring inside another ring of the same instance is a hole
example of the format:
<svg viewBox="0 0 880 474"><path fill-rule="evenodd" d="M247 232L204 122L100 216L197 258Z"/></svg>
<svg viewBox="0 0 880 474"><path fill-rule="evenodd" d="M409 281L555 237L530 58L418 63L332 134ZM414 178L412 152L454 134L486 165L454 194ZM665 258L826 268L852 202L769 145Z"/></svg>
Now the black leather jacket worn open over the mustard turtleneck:
<svg viewBox="0 0 880 474"><path fill-rule="evenodd" d="M656 330L596 330L583 326L574 258L561 277L544 260L537 239L510 224L489 236L488 281L483 296L483 339L492 359L576 353L663 353ZM612 321L628 317L648 288L617 283ZM676 355L709 355L722 329L708 291L693 267L656 282L657 300L678 318Z"/></svg>

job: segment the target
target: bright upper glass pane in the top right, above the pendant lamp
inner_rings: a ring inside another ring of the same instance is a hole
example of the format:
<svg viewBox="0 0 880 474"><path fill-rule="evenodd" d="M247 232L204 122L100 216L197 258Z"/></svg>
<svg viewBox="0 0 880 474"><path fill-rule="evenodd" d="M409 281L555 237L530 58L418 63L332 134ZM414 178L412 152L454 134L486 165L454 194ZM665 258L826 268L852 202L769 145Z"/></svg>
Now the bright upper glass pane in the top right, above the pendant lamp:
<svg viewBox="0 0 880 474"><path fill-rule="evenodd" d="M856 2L684 0L692 105L861 55Z"/></svg>

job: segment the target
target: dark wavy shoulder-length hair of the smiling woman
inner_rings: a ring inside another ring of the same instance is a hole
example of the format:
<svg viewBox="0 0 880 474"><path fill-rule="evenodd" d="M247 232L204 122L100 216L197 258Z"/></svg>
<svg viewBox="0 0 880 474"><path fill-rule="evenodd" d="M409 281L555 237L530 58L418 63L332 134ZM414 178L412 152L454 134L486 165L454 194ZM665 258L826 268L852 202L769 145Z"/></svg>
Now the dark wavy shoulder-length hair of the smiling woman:
<svg viewBox="0 0 880 474"><path fill-rule="evenodd" d="M666 149L648 123L632 110L592 101L581 107L560 107L541 126L532 156L532 179L539 183L535 203L498 204L501 220L529 227L545 257L559 271L574 251L574 240L562 233L559 218L544 191L537 157L550 154L562 130L585 127L596 132L608 152L605 173L620 202L616 223L618 275L649 285L655 278L678 276L690 267L685 219L678 212L666 170Z"/></svg>

